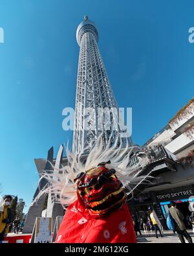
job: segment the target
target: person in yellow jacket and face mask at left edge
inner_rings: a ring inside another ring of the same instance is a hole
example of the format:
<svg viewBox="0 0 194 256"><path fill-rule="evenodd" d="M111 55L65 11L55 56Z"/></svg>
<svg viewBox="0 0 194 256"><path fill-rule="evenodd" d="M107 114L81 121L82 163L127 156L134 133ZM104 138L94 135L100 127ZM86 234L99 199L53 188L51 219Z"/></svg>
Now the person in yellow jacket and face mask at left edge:
<svg viewBox="0 0 194 256"><path fill-rule="evenodd" d="M4 240L8 225L11 222L10 203L12 196L5 196L0 209L0 243Z"/></svg>

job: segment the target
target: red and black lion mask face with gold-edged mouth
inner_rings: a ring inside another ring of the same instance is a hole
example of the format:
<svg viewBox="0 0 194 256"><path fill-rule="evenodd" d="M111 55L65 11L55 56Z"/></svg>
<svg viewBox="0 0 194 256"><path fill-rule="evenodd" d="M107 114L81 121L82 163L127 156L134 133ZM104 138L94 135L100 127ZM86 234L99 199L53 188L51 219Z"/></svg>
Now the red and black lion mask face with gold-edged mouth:
<svg viewBox="0 0 194 256"><path fill-rule="evenodd" d="M74 181L78 181L78 196L91 215L105 215L126 201L127 196L114 169L99 166L81 172Z"/></svg>

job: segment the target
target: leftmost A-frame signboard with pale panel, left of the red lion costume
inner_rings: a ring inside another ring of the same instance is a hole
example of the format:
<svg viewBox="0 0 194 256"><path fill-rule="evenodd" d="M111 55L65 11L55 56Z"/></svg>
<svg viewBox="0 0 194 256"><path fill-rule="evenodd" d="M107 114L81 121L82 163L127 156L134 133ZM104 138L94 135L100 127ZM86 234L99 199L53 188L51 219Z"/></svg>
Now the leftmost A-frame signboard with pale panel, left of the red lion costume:
<svg viewBox="0 0 194 256"><path fill-rule="evenodd" d="M36 218L31 243L50 243L52 237L52 218Z"/></svg>

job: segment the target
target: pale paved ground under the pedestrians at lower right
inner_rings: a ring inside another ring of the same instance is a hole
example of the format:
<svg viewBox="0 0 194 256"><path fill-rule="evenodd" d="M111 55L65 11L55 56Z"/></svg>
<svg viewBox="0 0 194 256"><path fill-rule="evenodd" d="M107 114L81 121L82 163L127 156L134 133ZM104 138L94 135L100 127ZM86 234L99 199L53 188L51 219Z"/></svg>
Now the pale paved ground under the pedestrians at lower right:
<svg viewBox="0 0 194 256"><path fill-rule="evenodd" d="M188 230L188 233L189 235L191 235L194 243L193 232L191 230ZM173 231L164 231L164 237L160 237L160 235L158 237L159 238L156 239L155 233L153 231L152 232L149 231L148 233L144 233L144 231L142 231L142 237L138 235L137 239L138 239L138 243L173 243L173 244L180 243L177 233L174 235Z"/></svg>

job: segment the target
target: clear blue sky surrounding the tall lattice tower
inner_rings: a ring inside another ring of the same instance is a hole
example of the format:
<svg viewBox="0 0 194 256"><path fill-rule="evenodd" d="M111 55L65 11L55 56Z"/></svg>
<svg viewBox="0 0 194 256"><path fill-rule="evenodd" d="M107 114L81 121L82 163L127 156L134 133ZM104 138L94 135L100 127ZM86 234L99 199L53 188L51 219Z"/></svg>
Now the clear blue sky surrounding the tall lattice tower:
<svg viewBox="0 0 194 256"><path fill-rule="evenodd" d="M0 0L0 183L27 203L38 183L34 158L72 140L63 108L74 108L84 15L120 107L133 108L133 140L142 145L193 97L193 1Z"/></svg>

